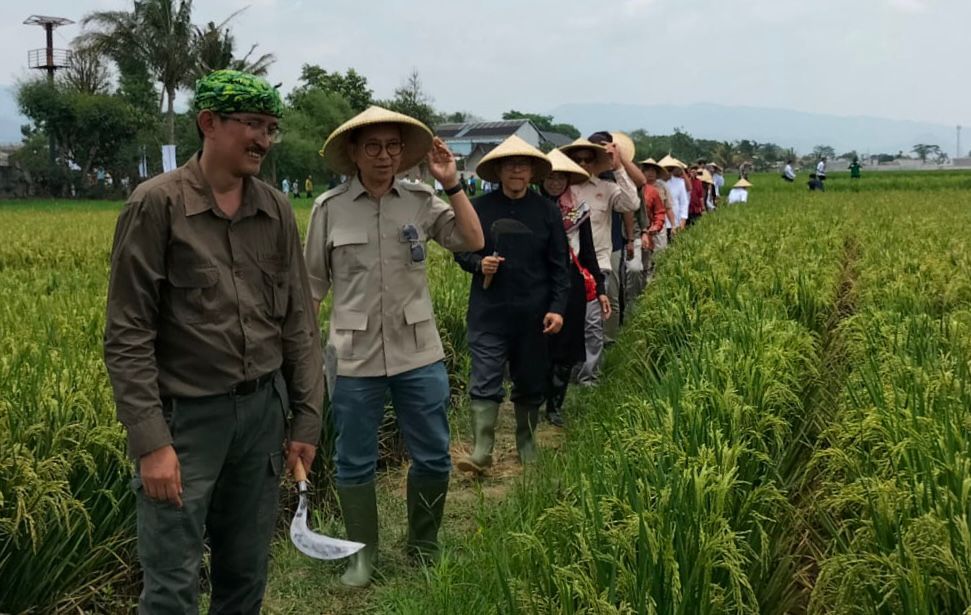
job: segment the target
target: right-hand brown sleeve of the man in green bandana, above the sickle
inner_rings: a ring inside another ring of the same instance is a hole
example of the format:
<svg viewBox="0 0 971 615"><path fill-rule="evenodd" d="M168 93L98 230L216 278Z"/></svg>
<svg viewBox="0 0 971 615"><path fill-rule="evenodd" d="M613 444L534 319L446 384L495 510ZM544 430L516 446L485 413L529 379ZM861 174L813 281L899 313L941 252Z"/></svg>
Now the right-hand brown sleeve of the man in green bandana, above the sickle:
<svg viewBox="0 0 971 615"><path fill-rule="evenodd" d="M296 221L287 221L289 235L290 297L283 323L283 377L287 383L293 423L290 439L317 444L324 402L324 366L320 331L311 297ZM309 244L309 241L308 241Z"/></svg>

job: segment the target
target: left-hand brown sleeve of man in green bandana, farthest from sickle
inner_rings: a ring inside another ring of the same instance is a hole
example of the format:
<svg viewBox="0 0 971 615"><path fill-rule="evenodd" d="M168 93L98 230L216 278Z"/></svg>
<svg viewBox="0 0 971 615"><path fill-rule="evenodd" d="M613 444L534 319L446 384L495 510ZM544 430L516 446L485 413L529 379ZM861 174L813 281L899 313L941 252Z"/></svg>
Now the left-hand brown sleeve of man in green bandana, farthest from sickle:
<svg viewBox="0 0 971 615"><path fill-rule="evenodd" d="M168 226L164 202L130 201L118 218L111 250L105 366L132 459L172 443L162 415L155 357Z"/></svg>

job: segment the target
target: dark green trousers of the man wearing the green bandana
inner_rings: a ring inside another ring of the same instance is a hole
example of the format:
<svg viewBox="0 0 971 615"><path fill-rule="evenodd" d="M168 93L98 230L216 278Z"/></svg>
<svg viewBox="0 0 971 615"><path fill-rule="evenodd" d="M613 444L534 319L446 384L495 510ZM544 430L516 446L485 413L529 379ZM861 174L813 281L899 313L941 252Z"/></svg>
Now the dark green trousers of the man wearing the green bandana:
<svg viewBox="0 0 971 615"><path fill-rule="evenodd" d="M250 395L164 403L182 472L183 507L149 499L141 479L138 612L199 612L203 541L211 547L210 613L259 613L283 471L282 380Z"/></svg>

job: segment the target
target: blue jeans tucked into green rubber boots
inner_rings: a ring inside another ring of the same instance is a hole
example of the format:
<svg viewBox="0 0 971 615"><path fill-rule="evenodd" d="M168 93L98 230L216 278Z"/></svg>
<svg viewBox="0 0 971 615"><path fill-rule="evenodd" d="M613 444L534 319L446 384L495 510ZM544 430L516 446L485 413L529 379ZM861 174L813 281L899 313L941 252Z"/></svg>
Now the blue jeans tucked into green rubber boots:
<svg viewBox="0 0 971 615"><path fill-rule="evenodd" d="M448 432L448 373L441 361L396 376L338 376L331 398L337 430L337 484L374 480L378 429L388 391L411 456L409 476L447 479L452 470Z"/></svg>

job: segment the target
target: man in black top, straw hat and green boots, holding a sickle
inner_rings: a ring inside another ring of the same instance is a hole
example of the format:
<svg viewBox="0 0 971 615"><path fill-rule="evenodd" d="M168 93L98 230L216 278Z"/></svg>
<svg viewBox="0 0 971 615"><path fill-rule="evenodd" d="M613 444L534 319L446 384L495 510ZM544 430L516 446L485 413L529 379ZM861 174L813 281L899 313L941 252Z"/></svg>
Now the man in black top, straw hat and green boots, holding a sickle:
<svg viewBox="0 0 971 615"><path fill-rule="evenodd" d="M472 274L468 339L472 355L473 452L461 470L482 473L492 464L506 364L512 377L516 451L522 463L536 457L533 431L546 397L547 336L560 331L570 288L566 234L559 208L530 190L549 175L543 152L513 135L486 154L475 174L499 189L475 200L487 229L477 252L456 254Z"/></svg>

